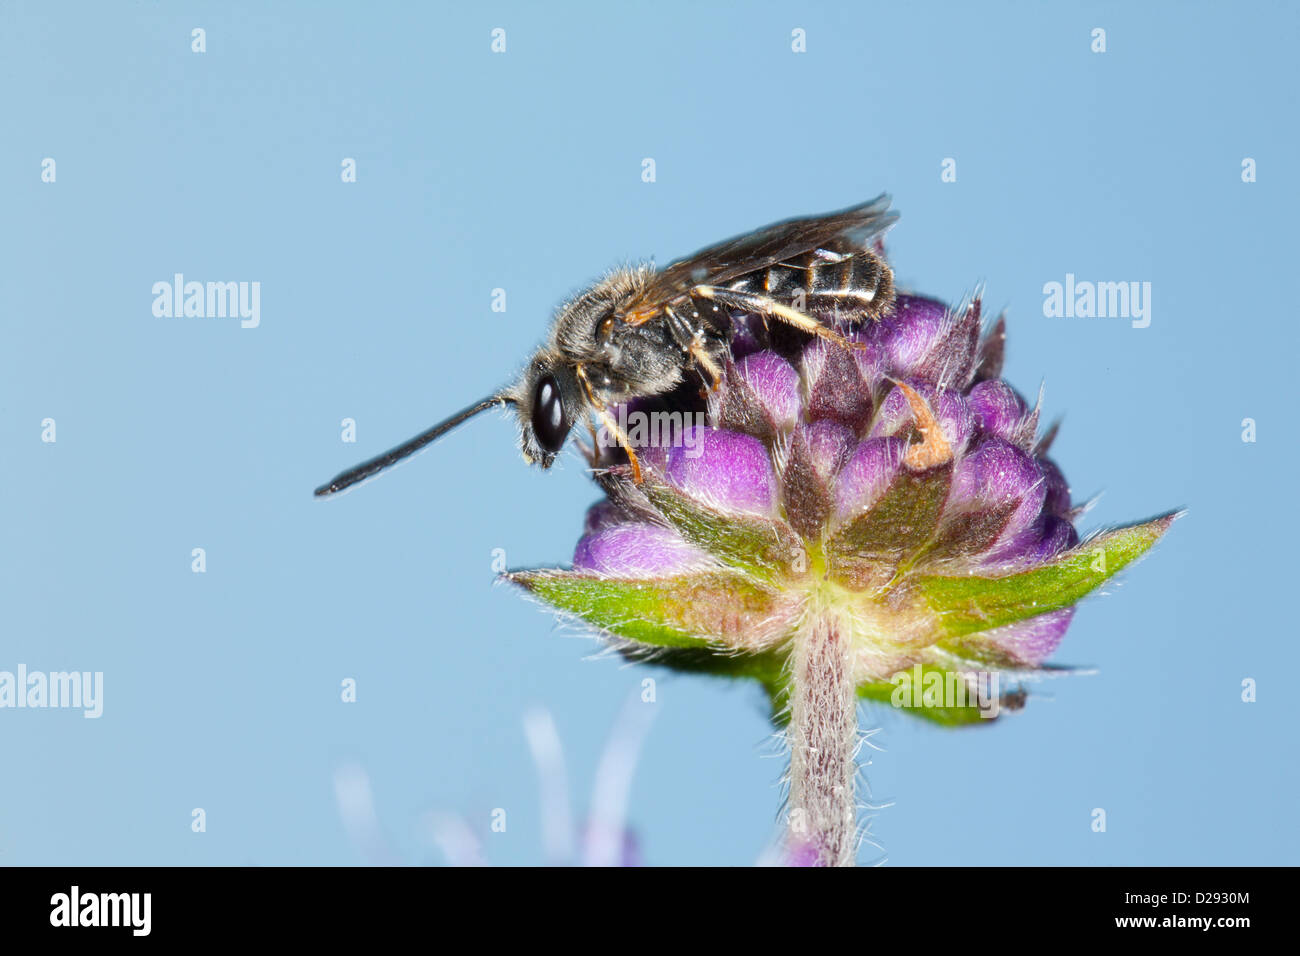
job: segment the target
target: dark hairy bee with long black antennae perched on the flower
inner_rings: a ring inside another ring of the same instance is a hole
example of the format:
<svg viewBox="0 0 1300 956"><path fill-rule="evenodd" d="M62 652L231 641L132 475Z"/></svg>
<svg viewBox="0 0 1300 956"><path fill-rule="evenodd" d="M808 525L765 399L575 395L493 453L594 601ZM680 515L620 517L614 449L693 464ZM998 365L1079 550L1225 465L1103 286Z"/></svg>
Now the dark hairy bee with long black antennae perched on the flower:
<svg viewBox="0 0 1300 956"><path fill-rule="evenodd" d="M790 219L679 259L615 269L562 304L545 345L512 386L316 489L342 492L420 451L482 411L514 407L529 464L551 467L573 427L594 416L641 467L611 408L662 395L696 375L716 390L736 334L733 315L780 323L844 349L840 323L893 307L893 272L879 252L897 216L888 196L823 216Z"/></svg>

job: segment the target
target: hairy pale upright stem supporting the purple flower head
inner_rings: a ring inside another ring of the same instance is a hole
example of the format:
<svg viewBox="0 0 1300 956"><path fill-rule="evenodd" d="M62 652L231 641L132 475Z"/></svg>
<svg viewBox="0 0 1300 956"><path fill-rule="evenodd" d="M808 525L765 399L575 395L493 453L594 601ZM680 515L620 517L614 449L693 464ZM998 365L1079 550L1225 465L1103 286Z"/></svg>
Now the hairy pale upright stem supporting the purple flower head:
<svg viewBox="0 0 1300 956"><path fill-rule="evenodd" d="M858 701L838 620L814 613L794 639L790 671L792 858L853 866L857 857Z"/></svg>

